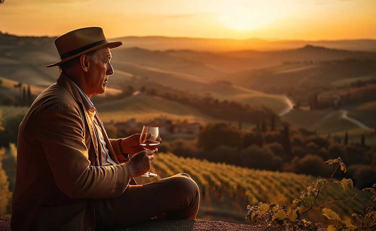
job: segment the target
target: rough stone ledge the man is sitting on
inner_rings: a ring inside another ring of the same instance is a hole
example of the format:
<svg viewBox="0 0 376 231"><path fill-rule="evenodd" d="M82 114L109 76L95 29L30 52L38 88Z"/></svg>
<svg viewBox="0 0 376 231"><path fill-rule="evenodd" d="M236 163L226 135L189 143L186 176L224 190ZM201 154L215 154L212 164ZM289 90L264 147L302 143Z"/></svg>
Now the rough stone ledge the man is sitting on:
<svg viewBox="0 0 376 231"><path fill-rule="evenodd" d="M319 229L319 231L326 230ZM0 231L10 231L10 216L0 217ZM224 221L153 219L141 225L115 231L279 231L279 229Z"/></svg>

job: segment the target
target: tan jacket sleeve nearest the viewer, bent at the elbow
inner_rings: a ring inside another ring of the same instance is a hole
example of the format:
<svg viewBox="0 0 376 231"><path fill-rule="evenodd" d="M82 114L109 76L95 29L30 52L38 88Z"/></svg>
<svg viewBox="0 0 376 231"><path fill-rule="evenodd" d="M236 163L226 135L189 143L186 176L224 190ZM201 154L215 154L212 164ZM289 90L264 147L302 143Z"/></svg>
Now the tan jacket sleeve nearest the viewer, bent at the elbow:
<svg viewBox="0 0 376 231"><path fill-rule="evenodd" d="M38 140L45 150L57 187L70 198L115 198L128 187L127 164L91 166L84 139L84 123L70 105L39 113Z"/></svg>

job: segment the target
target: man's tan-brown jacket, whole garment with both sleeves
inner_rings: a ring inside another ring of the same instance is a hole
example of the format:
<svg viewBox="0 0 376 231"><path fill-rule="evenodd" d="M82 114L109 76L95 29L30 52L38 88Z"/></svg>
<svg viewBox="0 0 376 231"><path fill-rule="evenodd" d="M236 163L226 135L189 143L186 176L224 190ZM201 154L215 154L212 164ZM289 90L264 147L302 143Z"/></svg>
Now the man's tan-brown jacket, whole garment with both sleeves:
<svg viewBox="0 0 376 231"><path fill-rule="evenodd" d="M94 116L64 74L31 105L19 128L12 231L94 231L94 199L115 198L127 188L121 139L103 133L118 165L101 166Z"/></svg>

